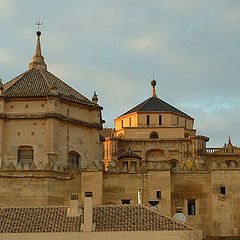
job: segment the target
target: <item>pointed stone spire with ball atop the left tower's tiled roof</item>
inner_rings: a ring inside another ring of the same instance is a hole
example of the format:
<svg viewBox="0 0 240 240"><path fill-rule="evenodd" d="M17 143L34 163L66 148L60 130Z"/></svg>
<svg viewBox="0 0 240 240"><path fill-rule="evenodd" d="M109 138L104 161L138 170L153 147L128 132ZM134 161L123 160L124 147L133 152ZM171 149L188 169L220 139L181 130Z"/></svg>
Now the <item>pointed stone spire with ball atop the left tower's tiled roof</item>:
<svg viewBox="0 0 240 240"><path fill-rule="evenodd" d="M47 65L44 62L44 57L42 56L41 51L41 43L40 43L40 36L41 32L37 31L37 45L36 45L36 52L33 56L33 61L29 64L29 69L37 68L37 69L47 69Z"/></svg>

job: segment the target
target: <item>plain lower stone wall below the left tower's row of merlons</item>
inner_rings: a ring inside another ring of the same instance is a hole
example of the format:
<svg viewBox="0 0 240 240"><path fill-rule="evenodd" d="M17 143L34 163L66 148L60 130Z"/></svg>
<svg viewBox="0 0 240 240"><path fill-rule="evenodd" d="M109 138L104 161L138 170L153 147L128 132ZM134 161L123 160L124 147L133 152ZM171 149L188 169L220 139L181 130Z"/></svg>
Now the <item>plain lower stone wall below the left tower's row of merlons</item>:
<svg viewBox="0 0 240 240"><path fill-rule="evenodd" d="M102 204L102 172L0 171L0 206L65 206L71 194L92 191L94 205Z"/></svg>

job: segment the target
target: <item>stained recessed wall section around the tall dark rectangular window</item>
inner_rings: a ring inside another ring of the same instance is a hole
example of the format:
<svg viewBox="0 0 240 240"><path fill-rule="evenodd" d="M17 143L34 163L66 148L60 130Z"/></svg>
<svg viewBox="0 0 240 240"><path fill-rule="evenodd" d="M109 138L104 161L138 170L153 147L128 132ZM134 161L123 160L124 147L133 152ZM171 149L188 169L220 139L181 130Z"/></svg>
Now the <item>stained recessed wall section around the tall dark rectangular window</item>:
<svg viewBox="0 0 240 240"><path fill-rule="evenodd" d="M171 174L172 216L176 207L181 207L187 224L202 229L204 234L212 233L211 175L208 172L186 172ZM196 215L188 215L187 201L195 199Z"/></svg>

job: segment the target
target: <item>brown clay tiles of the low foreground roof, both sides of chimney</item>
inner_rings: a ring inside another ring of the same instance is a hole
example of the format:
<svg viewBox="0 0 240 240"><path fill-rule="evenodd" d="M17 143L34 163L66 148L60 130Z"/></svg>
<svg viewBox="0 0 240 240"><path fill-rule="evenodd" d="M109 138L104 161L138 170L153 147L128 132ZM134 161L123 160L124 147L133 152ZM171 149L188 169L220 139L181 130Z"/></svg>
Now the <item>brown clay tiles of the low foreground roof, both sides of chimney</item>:
<svg viewBox="0 0 240 240"><path fill-rule="evenodd" d="M83 213L67 217L67 207L0 208L0 233L80 232ZM97 206L93 231L191 230L188 225L142 205Z"/></svg>

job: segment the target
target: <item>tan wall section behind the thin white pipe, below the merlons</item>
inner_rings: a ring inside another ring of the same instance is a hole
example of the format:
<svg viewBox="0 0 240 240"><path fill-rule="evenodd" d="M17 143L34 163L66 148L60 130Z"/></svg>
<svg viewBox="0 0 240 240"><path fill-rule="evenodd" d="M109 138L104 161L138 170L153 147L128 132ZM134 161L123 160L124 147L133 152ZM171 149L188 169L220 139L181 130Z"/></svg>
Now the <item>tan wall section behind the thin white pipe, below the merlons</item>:
<svg viewBox="0 0 240 240"><path fill-rule="evenodd" d="M170 172L149 171L148 174L106 173L103 176L103 204L121 205L121 200L129 199L137 204L137 190L143 189L143 203L156 198L156 191L161 191L159 211L171 215Z"/></svg>

